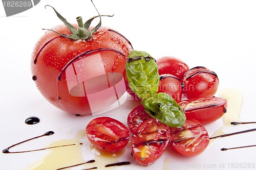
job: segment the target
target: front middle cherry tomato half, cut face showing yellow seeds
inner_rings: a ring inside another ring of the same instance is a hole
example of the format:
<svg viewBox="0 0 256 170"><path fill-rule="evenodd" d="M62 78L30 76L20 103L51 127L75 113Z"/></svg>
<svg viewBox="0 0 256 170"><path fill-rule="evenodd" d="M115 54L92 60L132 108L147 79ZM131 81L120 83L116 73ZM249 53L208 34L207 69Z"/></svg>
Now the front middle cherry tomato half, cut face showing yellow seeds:
<svg viewBox="0 0 256 170"><path fill-rule="evenodd" d="M132 154L143 166L161 157L170 140L170 128L155 118L144 120L132 138Z"/></svg>

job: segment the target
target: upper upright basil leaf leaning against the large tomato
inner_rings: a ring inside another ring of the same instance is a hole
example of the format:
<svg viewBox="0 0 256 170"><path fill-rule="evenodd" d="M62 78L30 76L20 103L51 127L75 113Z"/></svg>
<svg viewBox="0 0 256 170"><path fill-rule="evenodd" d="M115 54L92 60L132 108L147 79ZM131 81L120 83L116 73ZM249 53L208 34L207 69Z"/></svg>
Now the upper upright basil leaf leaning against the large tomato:
<svg viewBox="0 0 256 170"><path fill-rule="evenodd" d="M150 54L131 51L125 65L130 88L141 99L153 96L158 91L159 74L156 60Z"/></svg>

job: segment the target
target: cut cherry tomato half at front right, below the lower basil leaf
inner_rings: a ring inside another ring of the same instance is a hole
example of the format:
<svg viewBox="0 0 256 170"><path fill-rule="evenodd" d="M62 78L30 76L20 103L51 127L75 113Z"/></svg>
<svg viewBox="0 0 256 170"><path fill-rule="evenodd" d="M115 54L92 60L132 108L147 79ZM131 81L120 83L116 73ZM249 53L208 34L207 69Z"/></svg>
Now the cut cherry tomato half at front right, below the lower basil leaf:
<svg viewBox="0 0 256 170"><path fill-rule="evenodd" d="M171 134L173 149L184 156L197 156L209 144L209 135L205 127L195 119L186 120L183 128Z"/></svg>

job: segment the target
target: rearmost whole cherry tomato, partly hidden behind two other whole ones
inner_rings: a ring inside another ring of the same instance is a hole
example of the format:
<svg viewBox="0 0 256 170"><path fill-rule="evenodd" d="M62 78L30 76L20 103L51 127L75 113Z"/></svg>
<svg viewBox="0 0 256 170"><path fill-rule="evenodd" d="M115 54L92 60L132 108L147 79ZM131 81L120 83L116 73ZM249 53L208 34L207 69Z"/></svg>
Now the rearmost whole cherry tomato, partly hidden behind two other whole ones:
<svg viewBox="0 0 256 170"><path fill-rule="evenodd" d="M180 80L184 73L188 70L186 63L175 57L161 57L157 59L159 75L171 74L178 77Z"/></svg>

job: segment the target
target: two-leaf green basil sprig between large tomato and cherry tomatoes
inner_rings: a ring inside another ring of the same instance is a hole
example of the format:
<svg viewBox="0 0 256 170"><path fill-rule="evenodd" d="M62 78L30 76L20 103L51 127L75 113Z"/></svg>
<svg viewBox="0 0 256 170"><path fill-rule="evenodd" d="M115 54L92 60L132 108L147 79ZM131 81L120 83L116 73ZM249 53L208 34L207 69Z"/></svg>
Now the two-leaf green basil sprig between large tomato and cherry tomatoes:
<svg viewBox="0 0 256 170"><path fill-rule="evenodd" d="M183 127L186 116L176 101L166 93L157 93L159 73L156 60L146 52L131 51L126 60L130 88L142 99L145 111L169 127Z"/></svg>

